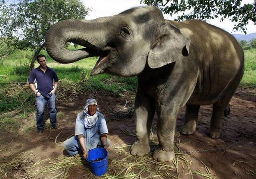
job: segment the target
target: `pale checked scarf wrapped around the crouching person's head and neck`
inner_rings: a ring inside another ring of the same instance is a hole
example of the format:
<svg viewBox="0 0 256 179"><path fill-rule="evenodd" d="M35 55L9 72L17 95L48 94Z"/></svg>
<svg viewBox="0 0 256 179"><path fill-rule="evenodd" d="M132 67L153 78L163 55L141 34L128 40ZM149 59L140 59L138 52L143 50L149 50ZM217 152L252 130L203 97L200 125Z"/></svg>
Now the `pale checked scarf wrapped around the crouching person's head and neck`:
<svg viewBox="0 0 256 179"><path fill-rule="evenodd" d="M91 116L88 112L88 106L93 105L93 104L97 105L97 109L96 109L95 114L93 116ZM98 111L99 111L99 108L98 108L97 101L95 99L90 98L90 99L86 100L85 107L84 107L84 126L85 126L85 128L92 128L96 124L96 122L98 120Z"/></svg>

